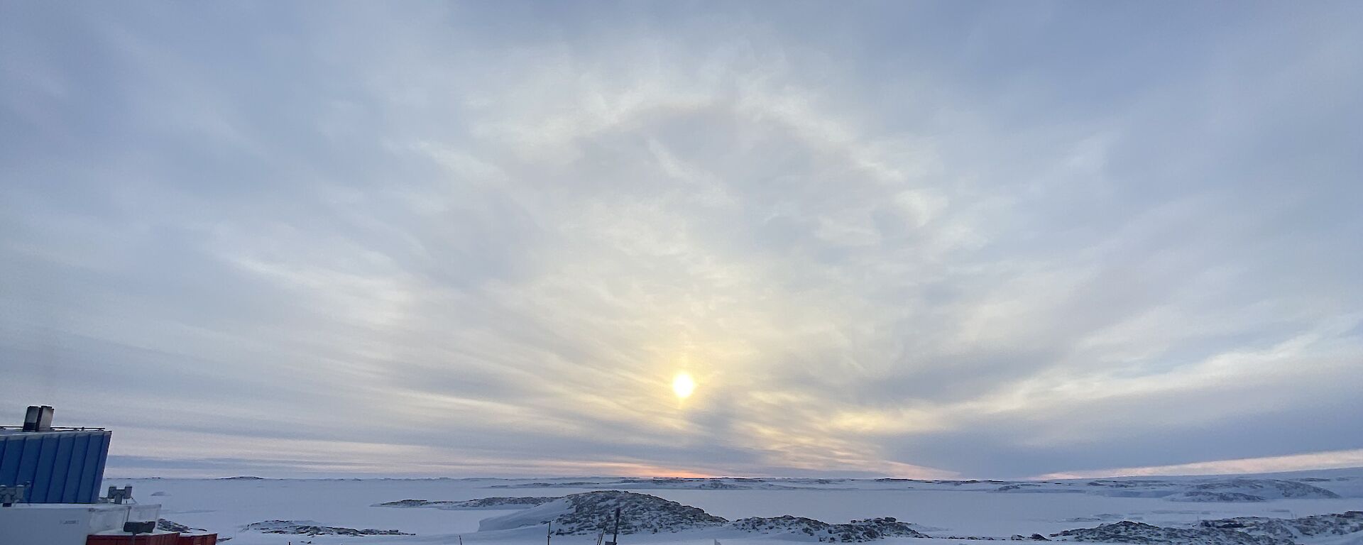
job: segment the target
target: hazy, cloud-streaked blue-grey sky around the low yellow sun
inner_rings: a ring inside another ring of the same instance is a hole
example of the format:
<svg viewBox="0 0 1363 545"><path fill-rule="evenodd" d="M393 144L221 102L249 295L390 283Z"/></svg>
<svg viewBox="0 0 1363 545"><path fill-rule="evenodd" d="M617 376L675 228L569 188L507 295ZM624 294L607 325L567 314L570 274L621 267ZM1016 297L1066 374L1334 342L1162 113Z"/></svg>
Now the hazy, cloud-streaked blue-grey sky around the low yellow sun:
<svg viewBox="0 0 1363 545"><path fill-rule="evenodd" d="M0 420L120 477L1363 466L1360 22L0 0Z"/></svg>

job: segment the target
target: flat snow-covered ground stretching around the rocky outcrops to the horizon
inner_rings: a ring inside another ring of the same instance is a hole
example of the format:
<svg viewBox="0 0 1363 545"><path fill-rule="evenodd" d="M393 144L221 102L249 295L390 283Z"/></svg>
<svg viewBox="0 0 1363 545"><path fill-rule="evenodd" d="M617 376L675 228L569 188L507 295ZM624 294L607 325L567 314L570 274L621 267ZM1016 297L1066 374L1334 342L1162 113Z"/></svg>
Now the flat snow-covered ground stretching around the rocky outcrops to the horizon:
<svg viewBox="0 0 1363 545"><path fill-rule="evenodd" d="M741 527L774 527L752 522L739 527L716 518L803 516L823 523L893 516L935 538L1041 534L1089 529L1120 520L1153 526L1191 527L1202 520L1234 516L1277 519L1344 514L1363 510L1363 469L1299 471L1274 476L1142 477L1073 481L905 481L905 480L120 480L105 485L132 485L140 503L159 503L162 516L191 527L232 537L232 545L264 544L458 544L511 545L545 540L542 519L574 519L566 510L583 510L590 500L624 497L582 496L544 501L593 490L628 490L675 501L653 501L638 510L672 510L656 520L683 525L680 531L652 530L622 535L628 544L765 544L814 541L791 533L752 533ZM461 504L485 497L515 497ZM395 505L380 505L401 500ZM507 503L499 508L499 503ZM596 504L592 504L596 505ZM661 505L661 507L657 507ZM597 505L600 507L600 505ZM686 507L705 514L680 511ZM537 514L544 514L540 516ZM594 516L594 515L592 515ZM626 516L631 516L630 512ZM650 515L652 516L652 515ZM478 531L480 522L489 519ZM304 535L247 530L288 527L289 523L357 530L399 530L413 535ZM519 526L526 523L529 526ZM518 527L519 526L519 527ZM563 526L567 527L567 526ZM586 527L586 526L583 526ZM571 527L568 527L571 530ZM1144 526L1142 526L1144 529ZM1104 534L1107 535L1107 534ZM594 545L596 534L553 535L551 545ZM1296 542L1363 544L1363 533L1299 535ZM883 544L919 544L921 538L891 537ZM938 541L940 542L940 541ZM962 541L975 542L979 541Z"/></svg>

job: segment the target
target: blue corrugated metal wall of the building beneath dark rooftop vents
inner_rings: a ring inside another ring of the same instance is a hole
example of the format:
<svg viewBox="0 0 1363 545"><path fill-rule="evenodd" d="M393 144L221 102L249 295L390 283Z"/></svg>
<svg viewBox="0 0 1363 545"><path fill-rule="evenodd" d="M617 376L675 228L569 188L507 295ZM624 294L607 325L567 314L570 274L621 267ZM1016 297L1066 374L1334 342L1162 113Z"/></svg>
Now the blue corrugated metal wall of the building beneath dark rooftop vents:
<svg viewBox="0 0 1363 545"><path fill-rule="evenodd" d="M0 486L25 485L30 503L94 503L99 497L108 431L0 435Z"/></svg>

